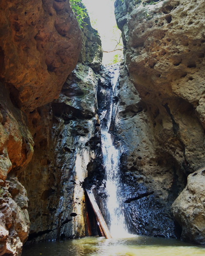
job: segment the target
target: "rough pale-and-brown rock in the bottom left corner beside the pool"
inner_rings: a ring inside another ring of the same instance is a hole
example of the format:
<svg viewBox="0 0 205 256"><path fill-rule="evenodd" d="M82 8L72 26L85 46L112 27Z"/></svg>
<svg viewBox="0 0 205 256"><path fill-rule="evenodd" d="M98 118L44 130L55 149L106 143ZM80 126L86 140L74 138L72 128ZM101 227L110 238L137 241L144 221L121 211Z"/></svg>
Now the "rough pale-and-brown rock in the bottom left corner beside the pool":
<svg viewBox="0 0 205 256"><path fill-rule="evenodd" d="M0 255L16 256L29 233L27 193L16 177L0 185Z"/></svg>

